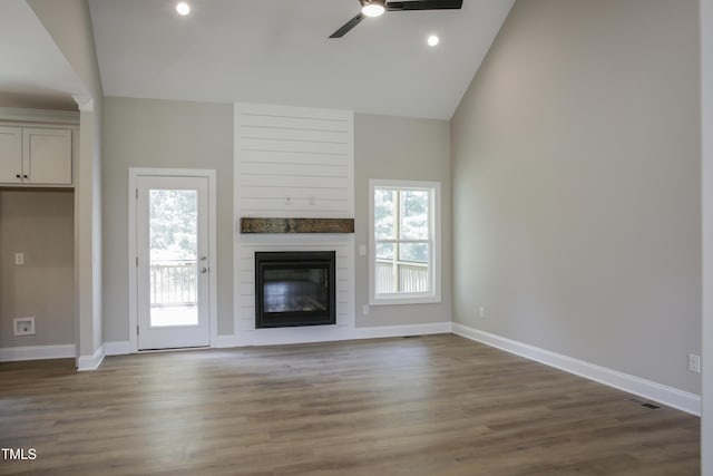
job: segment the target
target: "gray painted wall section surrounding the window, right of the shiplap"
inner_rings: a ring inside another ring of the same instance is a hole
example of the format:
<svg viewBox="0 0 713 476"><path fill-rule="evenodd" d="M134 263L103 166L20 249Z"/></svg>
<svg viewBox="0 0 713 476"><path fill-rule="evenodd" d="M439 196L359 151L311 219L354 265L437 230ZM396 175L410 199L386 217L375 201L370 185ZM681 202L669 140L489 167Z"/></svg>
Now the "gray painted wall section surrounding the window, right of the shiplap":
<svg viewBox="0 0 713 476"><path fill-rule="evenodd" d="M450 125L447 120L354 116L354 215L356 249L369 245L369 179L441 183L441 302L372 305L369 315L369 260L356 253L356 327L448 322L451 319Z"/></svg>

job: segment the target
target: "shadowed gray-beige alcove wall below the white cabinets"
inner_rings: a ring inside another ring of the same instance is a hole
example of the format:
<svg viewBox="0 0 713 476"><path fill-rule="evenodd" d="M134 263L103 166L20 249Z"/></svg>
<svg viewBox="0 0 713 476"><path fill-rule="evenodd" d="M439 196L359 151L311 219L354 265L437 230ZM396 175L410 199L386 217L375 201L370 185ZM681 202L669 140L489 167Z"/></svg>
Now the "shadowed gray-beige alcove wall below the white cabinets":
<svg viewBox="0 0 713 476"><path fill-rule="evenodd" d="M72 191L0 191L0 348L75 343L74 251ZM36 334L13 336L27 317Z"/></svg>

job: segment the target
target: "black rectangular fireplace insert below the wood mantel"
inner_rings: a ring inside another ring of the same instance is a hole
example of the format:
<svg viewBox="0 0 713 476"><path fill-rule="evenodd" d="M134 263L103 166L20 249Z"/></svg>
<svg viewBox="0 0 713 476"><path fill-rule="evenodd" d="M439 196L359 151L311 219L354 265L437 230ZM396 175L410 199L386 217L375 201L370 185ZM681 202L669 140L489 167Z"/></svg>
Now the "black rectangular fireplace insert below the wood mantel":
<svg viewBox="0 0 713 476"><path fill-rule="evenodd" d="M336 322L334 251L255 252L255 328Z"/></svg>

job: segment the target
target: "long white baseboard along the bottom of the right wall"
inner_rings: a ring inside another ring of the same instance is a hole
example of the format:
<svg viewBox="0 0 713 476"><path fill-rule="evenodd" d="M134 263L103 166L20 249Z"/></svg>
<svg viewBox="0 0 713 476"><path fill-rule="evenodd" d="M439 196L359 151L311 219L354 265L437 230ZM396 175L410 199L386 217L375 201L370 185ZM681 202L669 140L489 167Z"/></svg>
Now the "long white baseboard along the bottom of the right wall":
<svg viewBox="0 0 713 476"><path fill-rule="evenodd" d="M701 396L699 395L690 394L687 391L678 390L677 388L619 372L618 370L608 369L595 363L589 363L584 360L574 359L572 357L563 356L560 353L551 352L549 350L540 349L538 347L529 346L500 336L491 334L456 322L452 323L452 332L467 339L565 370L569 373L661 402L668 407L701 416Z"/></svg>

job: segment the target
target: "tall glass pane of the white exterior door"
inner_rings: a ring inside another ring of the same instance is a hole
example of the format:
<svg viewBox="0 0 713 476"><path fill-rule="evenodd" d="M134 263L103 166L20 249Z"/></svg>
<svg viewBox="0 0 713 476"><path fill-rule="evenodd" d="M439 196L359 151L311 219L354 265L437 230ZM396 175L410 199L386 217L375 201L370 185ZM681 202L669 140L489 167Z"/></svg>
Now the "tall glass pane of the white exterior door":
<svg viewBox="0 0 713 476"><path fill-rule="evenodd" d="M197 326L198 193L152 190L150 326Z"/></svg>

